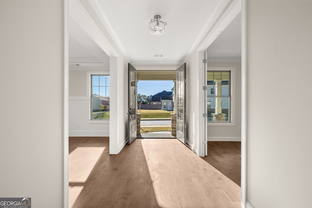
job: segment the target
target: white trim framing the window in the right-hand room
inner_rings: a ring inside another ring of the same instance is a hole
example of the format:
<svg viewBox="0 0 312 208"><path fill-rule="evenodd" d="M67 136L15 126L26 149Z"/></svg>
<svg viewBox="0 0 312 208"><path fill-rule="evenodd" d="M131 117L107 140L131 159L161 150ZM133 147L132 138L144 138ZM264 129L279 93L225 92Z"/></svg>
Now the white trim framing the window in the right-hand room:
<svg viewBox="0 0 312 208"><path fill-rule="evenodd" d="M235 67L208 67L208 71L230 71L231 72L231 103L230 103L230 122L208 122L207 126L235 126ZM207 81L206 81L207 86ZM206 95L207 96L207 95ZM206 107L207 108L207 107Z"/></svg>

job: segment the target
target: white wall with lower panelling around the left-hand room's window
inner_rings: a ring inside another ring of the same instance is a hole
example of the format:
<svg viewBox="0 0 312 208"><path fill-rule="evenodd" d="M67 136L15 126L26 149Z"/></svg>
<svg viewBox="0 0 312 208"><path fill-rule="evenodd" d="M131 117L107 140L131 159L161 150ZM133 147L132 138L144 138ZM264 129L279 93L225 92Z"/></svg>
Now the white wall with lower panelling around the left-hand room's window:
<svg viewBox="0 0 312 208"><path fill-rule="evenodd" d="M90 119L90 73L69 71L69 136L109 136L109 120Z"/></svg>

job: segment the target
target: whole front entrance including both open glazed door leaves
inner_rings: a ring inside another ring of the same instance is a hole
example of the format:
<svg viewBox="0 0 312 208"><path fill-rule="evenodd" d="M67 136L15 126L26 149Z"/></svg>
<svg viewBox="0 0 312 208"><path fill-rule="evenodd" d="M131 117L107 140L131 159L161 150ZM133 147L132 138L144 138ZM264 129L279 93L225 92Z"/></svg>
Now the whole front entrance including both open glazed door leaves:
<svg viewBox="0 0 312 208"><path fill-rule="evenodd" d="M128 66L129 141L133 140L133 121L130 117L134 105L132 96L137 95L137 137L177 138L185 144L186 64L170 71L137 71L131 64Z"/></svg>

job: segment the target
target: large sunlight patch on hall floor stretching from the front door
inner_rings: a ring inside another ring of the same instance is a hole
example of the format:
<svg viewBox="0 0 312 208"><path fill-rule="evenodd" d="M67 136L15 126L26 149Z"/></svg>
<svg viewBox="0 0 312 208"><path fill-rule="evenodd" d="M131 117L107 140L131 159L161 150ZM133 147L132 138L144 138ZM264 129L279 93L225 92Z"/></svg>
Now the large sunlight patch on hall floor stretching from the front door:
<svg viewBox="0 0 312 208"><path fill-rule="evenodd" d="M174 139L141 139L158 206L240 207L240 187ZM166 161L166 162L164 162ZM225 204L224 204L225 203Z"/></svg>

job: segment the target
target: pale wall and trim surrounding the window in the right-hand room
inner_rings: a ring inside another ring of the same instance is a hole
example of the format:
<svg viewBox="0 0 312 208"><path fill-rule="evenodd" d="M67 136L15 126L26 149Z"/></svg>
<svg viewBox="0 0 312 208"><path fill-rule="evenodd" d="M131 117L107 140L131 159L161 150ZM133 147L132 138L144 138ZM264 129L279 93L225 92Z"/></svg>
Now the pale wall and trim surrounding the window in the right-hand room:
<svg viewBox="0 0 312 208"><path fill-rule="evenodd" d="M209 59L209 57L208 57ZM208 141L240 141L241 140L241 63L240 62L208 62L208 67L234 67L234 126L210 126L207 128Z"/></svg>

